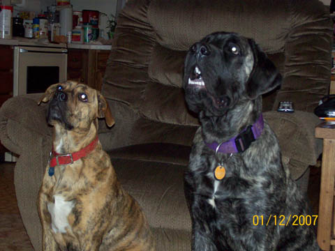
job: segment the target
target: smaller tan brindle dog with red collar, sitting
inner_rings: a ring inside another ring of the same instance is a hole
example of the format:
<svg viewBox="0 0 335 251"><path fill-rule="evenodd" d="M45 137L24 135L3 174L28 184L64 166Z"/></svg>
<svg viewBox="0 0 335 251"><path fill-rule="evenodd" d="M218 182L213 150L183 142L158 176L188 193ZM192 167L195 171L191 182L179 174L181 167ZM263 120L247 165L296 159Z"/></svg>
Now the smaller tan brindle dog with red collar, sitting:
<svg viewBox="0 0 335 251"><path fill-rule="evenodd" d="M85 84L50 86L47 122L53 156L40 187L43 250L155 250L140 206L121 188L98 141L98 118L114 124L107 102Z"/></svg>

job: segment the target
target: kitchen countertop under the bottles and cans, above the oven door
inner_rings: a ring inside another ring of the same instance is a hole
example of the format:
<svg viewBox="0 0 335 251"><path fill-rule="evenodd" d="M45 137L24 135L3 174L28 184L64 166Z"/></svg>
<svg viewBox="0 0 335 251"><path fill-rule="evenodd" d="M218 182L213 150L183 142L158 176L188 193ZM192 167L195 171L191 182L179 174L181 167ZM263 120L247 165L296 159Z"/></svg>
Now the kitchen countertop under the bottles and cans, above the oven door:
<svg viewBox="0 0 335 251"><path fill-rule="evenodd" d="M72 49L85 49L85 50L110 50L112 45L94 45L94 44L77 44L77 43L50 43L47 39L38 38L19 38L13 39L0 39L0 45L28 45L40 47L61 47Z"/></svg>

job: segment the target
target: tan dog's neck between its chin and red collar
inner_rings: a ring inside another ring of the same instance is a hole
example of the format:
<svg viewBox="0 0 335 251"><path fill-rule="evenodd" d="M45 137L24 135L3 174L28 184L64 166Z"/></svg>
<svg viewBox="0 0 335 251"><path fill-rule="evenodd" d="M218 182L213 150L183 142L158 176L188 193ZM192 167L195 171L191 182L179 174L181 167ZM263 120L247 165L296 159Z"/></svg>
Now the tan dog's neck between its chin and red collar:
<svg viewBox="0 0 335 251"><path fill-rule="evenodd" d="M54 125L53 150L59 154L75 153L92 142L97 133L98 129L94 123L84 132L82 130L66 130L57 123Z"/></svg>

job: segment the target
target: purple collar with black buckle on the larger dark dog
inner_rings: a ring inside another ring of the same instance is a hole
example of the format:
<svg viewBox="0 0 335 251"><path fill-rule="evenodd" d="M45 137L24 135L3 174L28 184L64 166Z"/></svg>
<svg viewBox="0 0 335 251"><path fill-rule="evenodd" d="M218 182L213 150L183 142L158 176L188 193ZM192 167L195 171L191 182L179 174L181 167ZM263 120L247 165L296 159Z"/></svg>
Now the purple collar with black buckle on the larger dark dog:
<svg viewBox="0 0 335 251"><path fill-rule="evenodd" d="M218 153L241 153L262 134L264 128L263 116L260 114L253 126L248 126L237 137L233 137L228 142L218 144L216 142L206 143L207 146Z"/></svg>

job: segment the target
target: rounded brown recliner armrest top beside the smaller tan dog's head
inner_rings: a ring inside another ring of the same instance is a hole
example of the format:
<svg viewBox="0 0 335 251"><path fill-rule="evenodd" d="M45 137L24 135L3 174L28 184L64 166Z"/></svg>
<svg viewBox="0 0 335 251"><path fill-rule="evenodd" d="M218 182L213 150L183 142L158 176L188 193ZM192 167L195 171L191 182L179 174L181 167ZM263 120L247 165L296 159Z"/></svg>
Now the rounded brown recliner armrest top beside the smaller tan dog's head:
<svg viewBox="0 0 335 251"><path fill-rule="evenodd" d="M31 150L27 140L50 137L52 128L45 120L47 105L37 105L40 95L28 94L10 98L0 108L0 140L8 150L21 155ZM35 149L36 150L36 149Z"/></svg>

